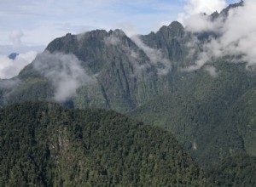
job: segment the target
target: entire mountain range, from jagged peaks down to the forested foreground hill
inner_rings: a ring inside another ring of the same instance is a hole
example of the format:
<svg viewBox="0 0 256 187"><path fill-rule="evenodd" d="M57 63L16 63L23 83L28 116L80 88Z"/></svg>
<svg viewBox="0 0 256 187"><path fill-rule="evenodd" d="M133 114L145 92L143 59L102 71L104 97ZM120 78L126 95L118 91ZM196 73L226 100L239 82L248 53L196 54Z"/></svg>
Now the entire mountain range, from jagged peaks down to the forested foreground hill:
<svg viewBox="0 0 256 187"><path fill-rule="evenodd" d="M241 1L219 14L203 16L211 23L225 24L230 10L242 6ZM188 31L173 21L148 35L127 37L117 29L56 38L17 77L0 80L1 141L7 148L14 144L13 152L2 150L1 183L12 186L4 178L13 178L14 184L37 181L38 185L67 186L253 186L255 67L239 53L207 56L206 63L200 64L206 44L221 37L216 31ZM21 133L15 134L20 127L26 128L24 137L30 138L15 144L12 139L21 139ZM88 150L94 127L96 145ZM143 131L147 139L138 135ZM51 146L64 147L53 150ZM27 149L32 149L30 157L17 159L15 154L21 156ZM171 152L162 152L166 150ZM94 159L93 154L98 157ZM123 163L114 162L122 159ZM25 168L38 173L22 170L26 162ZM70 171L68 163L73 164ZM131 171L127 168L132 164ZM23 176L22 181L12 175L17 167L15 175ZM171 167L176 169L170 171ZM186 179L180 179L180 174Z"/></svg>

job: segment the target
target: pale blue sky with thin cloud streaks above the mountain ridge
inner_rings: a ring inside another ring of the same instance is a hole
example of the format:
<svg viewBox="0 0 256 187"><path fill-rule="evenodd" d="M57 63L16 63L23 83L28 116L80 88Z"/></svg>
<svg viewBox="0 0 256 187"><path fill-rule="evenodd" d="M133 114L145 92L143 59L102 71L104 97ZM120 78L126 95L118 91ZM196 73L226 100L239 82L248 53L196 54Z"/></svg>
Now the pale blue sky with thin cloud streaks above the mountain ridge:
<svg viewBox="0 0 256 187"><path fill-rule="evenodd" d="M42 50L67 32L120 28L132 35L157 31L178 20L179 14L189 15L186 6L191 2L193 8L208 3L212 10L239 0L0 0L0 54Z"/></svg>

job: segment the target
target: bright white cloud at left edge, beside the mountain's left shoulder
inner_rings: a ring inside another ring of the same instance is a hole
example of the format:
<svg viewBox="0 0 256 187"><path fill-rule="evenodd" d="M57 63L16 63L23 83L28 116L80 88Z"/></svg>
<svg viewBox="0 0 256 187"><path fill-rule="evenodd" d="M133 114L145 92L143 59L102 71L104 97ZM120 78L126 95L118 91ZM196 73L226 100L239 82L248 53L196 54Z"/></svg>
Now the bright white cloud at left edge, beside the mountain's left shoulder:
<svg viewBox="0 0 256 187"><path fill-rule="evenodd" d="M29 63L35 59L37 52L30 51L26 54L19 54L16 59L9 59L6 55L0 55L0 78L6 79L15 77Z"/></svg>

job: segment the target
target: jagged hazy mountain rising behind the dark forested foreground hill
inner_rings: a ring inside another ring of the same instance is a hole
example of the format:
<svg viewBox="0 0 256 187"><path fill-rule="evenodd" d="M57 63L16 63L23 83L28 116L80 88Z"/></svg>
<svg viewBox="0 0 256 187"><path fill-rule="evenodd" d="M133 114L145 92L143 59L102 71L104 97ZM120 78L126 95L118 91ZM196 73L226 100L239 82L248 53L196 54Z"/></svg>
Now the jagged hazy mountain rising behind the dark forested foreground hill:
<svg viewBox="0 0 256 187"><path fill-rule="evenodd" d="M177 21L136 37L121 30L68 33L17 77L0 80L0 106L47 100L118 111L170 131L204 167L255 156L255 67L238 52L208 58L212 38L218 43L219 33L193 33Z"/></svg>

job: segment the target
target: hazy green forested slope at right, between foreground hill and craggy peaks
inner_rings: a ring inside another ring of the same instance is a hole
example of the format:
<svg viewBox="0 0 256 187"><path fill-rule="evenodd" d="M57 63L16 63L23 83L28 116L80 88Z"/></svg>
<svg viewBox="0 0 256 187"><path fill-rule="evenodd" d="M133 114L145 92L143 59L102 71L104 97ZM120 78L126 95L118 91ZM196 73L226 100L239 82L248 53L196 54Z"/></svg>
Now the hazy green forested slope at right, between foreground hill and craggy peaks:
<svg viewBox="0 0 256 187"><path fill-rule="evenodd" d="M224 60L224 59L223 59ZM255 74L220 60L218 77L204 71L183 90L165 94L129 113L171 131L201 165L247 152L255 156Z"/></svg>

